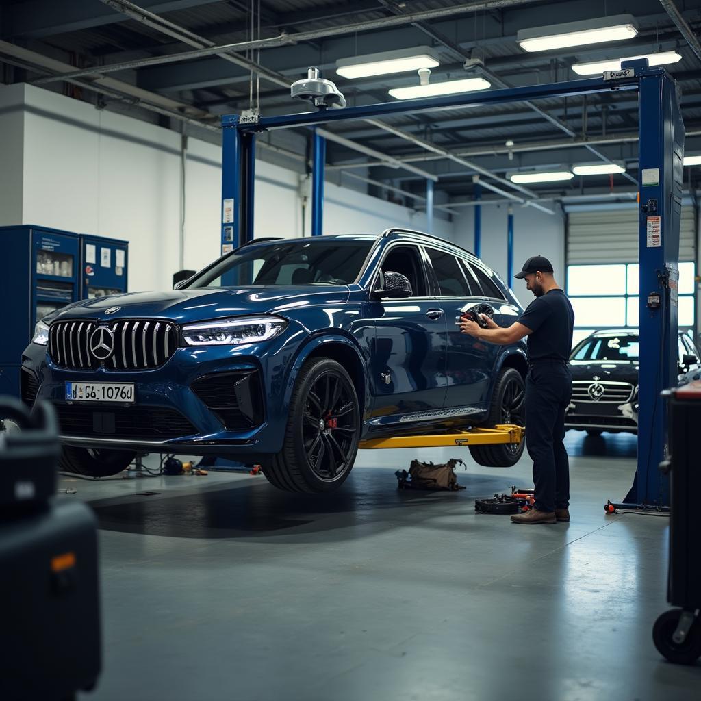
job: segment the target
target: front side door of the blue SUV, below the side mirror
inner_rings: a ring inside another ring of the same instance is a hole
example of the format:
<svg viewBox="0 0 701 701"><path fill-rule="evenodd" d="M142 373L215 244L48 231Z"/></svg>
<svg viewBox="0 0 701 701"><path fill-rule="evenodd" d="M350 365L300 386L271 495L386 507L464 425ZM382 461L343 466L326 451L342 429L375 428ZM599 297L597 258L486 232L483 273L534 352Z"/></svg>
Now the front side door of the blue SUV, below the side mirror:
<svg viewBox="0 0 701 701"><path fill-rule="evenodd" d="M370 359L376 426L407 423L414 414L430 421L443 407L446 365L446 314L435 298L424 254L418 245L395 243L379 269L402 273L413 294L405 299L370 301L375 338Z"/></svg>

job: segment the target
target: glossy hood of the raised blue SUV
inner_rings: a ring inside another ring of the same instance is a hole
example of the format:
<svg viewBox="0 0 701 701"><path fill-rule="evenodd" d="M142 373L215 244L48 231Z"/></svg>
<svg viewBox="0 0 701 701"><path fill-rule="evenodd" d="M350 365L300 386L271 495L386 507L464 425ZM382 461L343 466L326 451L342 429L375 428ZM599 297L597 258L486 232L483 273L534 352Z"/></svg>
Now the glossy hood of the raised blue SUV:
<svg viewBox="0 0 701 701"><path fill-rule="evenodd" d="M60 319L115 320L165 318L177 323L219 319L245 314L286 312L305 306L342 304L349 288L343 287L225 287L168 292L130 292L88 299L64 307L46 317ZM109 314L107 313L109 311Z"/></svg>

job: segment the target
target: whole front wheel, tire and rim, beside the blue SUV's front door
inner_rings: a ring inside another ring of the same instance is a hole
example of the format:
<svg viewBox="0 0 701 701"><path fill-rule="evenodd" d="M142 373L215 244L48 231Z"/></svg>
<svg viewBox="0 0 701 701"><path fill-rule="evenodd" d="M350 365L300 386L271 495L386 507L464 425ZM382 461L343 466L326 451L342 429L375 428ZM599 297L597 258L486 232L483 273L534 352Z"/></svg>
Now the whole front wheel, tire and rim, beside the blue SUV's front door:
<svg viewBox="0 0 701 701"><path fill-rule="evenodd" d="M336 421L336 428L328 421ZM360 407L351 376L335 360L314 358L297 377L283 449L264 465L264 475L284 491L334 491L353 468L359 438Z"/></svg>

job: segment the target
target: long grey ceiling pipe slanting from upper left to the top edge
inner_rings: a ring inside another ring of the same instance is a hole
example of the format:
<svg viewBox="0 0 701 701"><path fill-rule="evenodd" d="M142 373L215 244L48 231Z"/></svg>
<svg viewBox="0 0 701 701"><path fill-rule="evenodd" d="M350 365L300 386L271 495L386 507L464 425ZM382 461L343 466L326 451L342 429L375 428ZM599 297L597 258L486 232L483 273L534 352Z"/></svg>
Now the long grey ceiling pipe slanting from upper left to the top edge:
<svg viewBox="0 0 701 701"><path fill-rule="evenodd" d="M215 56L219 53L230 53L232 51L240 53L242 51L273 48L275 46L290 46L313 39L327 39L330 36L341 34L355 34L359 32L369 32L373 29L386 29L387 27L398 27L409 25L422 20L437 20L477 11L500 10L519 5L532 4L539 0L477 0L463 3L454 7L436 8L433 10L423 10L420 12L407 13L398 17L385 17L379 20L367 20L365 22L355 22L352 25L342 25L341 27L326 27L325 29L312 29L308 32L297 32L296 34L280 34L270 39L256 39L254 41L240 41L237 43L219 44L215 46L205 46L192 51L182 51L180 53L168 54L165 56L153 56L149 58L123 61L107 66L95 66L93 68L81 69L67 74L69 78L81 78L83 76L94 76L95 74L106 74L114 71L124 71L135 68L145 68L149 66L160 66L165 63L176 63L179 61L189 61L204 56Z"/></svg>

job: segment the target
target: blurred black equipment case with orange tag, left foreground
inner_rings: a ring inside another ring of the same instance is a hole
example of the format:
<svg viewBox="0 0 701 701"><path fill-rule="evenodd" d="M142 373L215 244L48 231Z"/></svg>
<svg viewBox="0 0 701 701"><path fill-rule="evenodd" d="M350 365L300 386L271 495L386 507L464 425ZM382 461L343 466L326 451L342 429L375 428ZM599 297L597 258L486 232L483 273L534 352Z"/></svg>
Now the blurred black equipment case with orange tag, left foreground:
<svg viewBox="0 0 701 701"><path fill-rule="evenodd" d="M53 407L32 414L0 397L0 698L66 701L101 665L97 525L83 503L57 499Z"/></svg>

